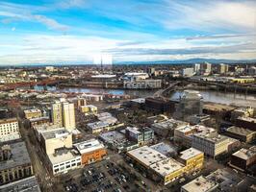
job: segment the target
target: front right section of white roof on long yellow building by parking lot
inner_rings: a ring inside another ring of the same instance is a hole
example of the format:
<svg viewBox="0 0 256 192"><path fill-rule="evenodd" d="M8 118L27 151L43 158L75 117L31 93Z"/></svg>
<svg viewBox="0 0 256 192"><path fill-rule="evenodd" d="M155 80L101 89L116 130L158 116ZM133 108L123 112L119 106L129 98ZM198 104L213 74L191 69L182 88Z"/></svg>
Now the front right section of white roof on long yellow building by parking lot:
<svg viewBox="0 0 256 192"><path fill-rule="evenodd" d="M166 158L150 165L150 168L157 172L159 175L165 177L177 170L185 167L182 163L173 158Z"/></svg>

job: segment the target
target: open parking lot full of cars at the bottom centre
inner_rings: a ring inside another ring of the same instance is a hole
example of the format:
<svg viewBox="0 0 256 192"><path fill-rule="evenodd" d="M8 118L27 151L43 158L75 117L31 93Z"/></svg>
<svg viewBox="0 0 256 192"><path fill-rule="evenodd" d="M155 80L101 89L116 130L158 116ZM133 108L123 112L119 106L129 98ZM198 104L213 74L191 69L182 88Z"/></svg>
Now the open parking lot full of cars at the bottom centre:
<svg viewBox="0 0 256 192"><path fill-rule="evenodd" d="M74 172L63 180L64 191L121 192L145 191L134 176L123 171L114 162L103 160Z"/></svg>

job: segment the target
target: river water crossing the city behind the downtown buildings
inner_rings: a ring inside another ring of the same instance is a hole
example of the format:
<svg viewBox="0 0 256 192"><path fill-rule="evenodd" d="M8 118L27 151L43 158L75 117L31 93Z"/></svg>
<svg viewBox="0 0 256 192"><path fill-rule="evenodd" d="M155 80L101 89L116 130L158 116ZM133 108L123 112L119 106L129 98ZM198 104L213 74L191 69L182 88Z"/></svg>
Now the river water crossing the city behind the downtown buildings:
<svg viewBox="0 0 256 192"><path fill-rule="evenodd" d="M35 86L36 90L43 90L42 86ZM64 87L57 89L56 86L47 86L49 91L60 92L77 92L77 93L111 93L116 95L128 94L137 97L152 96L157 90L127 90L127 89L102 89L102 88L82 88L82 87ZM170 99L178 99L182 91L174 91L170 95ZM218 92L213 90L200 90L200 94L203 96L203 101L213 102L226 105L235 105L243 107L256 108L256 94L248 94L247 96L242 93L231 92Z"/></svg>

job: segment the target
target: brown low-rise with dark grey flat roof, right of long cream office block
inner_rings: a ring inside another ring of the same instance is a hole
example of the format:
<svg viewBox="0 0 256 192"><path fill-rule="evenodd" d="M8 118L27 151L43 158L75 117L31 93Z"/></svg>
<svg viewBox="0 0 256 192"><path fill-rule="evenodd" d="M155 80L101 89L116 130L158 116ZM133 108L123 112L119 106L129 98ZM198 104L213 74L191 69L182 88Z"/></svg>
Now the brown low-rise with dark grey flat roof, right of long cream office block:
<svg viewBox="0 0 256 192"><path fill-rule="evenodd" d="M252 142L256 138L256 132L236 126L227 128L224 133L245 143Z"/></svg>

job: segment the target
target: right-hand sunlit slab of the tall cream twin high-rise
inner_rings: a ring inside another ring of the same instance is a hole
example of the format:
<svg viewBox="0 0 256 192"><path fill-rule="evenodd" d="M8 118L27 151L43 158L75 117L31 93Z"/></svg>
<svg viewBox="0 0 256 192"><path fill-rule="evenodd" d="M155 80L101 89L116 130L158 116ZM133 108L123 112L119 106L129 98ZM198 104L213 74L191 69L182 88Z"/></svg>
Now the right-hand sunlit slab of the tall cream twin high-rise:
<svg viewBox="0 0 256 192"><path fill-rule="evenodd" d="M75 108L74 104L63 103L63 123L66 130L75 129Z"/></svg>

